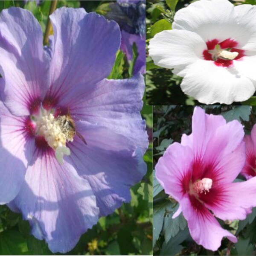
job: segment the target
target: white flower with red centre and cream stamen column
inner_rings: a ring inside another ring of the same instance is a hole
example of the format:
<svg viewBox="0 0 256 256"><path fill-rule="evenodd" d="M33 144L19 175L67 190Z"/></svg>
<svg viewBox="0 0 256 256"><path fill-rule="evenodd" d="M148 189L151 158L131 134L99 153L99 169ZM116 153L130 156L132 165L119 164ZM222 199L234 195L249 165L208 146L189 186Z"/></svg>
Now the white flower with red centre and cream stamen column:
<svg viewBox="0 0 256 256"><path fill-rule="evenodd" d="M150 40L160 67L183 76L181 89L199 102L231 104L256 87L256 6L200 0L177 11L172 30Z"/></svg>

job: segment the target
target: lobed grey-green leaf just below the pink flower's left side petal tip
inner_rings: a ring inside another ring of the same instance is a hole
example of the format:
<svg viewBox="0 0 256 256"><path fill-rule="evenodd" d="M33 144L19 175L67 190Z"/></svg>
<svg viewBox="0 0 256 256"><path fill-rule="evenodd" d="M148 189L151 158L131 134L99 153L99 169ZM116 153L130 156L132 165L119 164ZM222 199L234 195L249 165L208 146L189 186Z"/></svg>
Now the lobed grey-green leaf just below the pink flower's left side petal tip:
<svg viewBox="0 0 256 256"><path fill-rule="evenodd" d="M183 214L180 213L180 215L176 218L172 218L172 215L177 211L178 204L173 207L174 204L168 204L166 206L166 210L169 211L168 214L166 214L163 222L163 233L165 241L169 241L172 237L176 236L179 230L184 230L187 222L185 218L183 217Z"/></svg>

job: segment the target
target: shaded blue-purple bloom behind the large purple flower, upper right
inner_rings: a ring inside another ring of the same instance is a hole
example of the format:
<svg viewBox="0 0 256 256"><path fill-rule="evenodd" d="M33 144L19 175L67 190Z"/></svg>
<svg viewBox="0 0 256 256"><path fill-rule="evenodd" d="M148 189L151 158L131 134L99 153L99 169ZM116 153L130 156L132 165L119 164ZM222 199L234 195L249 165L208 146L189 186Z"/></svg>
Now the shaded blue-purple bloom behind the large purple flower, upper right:
<svg viewBox="0 0 256 256"><path fill-rule="evenodd" d="M137 46L138 56L133 73L145 73L146 59L146 4L145 0L117 0L110 4L111 11L106 17L116 20L121 28L121 50L128 61L133 59L133 44Z"/></svg>

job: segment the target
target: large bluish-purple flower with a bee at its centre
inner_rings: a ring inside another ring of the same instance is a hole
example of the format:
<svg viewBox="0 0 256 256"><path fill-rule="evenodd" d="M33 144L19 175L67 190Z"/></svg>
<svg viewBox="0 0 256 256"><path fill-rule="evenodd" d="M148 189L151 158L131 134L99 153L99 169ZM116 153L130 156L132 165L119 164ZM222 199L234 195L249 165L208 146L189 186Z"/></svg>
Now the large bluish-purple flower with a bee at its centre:
<svg viewBox="0 0 256 256"><path fill-rule="evenodd" d="M0 15L0 202L29 220L52 252L67 252L98 218L131 199L146 172L143 76L105 79L119 26L84 9L51 16L43 49L32 13Z"/></svg>

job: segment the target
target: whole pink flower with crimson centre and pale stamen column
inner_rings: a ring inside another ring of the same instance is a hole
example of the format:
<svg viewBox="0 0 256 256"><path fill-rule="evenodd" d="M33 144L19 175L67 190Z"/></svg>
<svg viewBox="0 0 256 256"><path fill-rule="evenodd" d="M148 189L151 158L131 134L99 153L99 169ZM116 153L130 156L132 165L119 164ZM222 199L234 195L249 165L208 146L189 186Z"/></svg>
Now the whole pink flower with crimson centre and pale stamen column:
<svg viewBox="0 0 256 256"><path fill-rule="evenodd" d="M214 215L242 220L256 206L256 177L233 183L245 161L243 137L238 121L226 123L198 107L192 134L170 145L156 165L157 180L179 202L173 218L182 212L192 238L209 250L217 250L224 236L237 242Z"/></svg>

